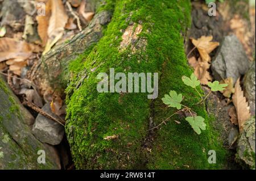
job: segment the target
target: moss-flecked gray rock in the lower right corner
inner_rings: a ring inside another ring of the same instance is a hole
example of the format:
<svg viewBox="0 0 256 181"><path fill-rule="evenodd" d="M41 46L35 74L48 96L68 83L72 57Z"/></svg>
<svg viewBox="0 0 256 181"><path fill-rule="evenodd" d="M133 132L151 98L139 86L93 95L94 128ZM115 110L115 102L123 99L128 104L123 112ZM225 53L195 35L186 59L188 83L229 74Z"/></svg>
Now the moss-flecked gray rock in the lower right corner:
<svg viewBox="0 0 256 181"><path fill-rule="evenodd" d="M250 117L243 126L237 142L237 161L255 169L255 117Z"/></svg>

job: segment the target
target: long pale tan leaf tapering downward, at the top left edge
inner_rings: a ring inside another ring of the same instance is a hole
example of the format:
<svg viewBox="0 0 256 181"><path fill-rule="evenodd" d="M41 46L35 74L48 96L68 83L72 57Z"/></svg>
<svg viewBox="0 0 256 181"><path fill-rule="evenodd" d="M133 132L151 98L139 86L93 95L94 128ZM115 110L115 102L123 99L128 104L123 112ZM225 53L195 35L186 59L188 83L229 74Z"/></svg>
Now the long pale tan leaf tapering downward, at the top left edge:
<svg viewBox="0 0 256 181"><path fill-rule="evenodd" d="M65 12L62 1L48 1L51 1L51 17L49 18L49 26L47 30L48 40L43 54L46 54L52 48L52 46L63 36L64 27L68 22L68 15Z"/></svg>

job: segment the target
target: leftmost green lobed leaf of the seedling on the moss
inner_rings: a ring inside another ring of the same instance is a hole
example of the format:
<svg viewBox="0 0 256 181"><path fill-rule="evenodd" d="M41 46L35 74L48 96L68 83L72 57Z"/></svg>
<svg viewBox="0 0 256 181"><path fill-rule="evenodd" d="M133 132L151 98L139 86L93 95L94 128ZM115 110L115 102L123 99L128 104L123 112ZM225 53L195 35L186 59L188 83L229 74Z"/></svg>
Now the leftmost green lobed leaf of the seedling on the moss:
<svg viewBox="0 0 256 181"><path fill-rule="evenodd" d="M182 101L182 94L177 95L176 91L170 91L170 95L164 95L162 98L163 103L168 105L168 107L176 107L178 110L181 109L180 102Z"/></svg>

